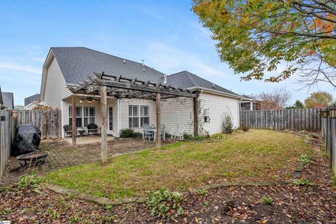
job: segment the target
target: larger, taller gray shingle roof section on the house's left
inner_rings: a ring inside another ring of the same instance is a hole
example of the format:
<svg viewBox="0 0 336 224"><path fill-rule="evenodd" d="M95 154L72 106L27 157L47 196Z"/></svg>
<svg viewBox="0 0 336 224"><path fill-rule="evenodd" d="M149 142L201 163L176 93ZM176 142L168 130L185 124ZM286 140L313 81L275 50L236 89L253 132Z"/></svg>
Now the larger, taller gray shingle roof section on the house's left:
<svg viewBox="0 0 336 224"><path fill-rule="evenodd" d="M51 48L67 84L77 84L93 72L158 83L164 74L142 63L108 55L89 48ZM125 62L125 63L124 63Z"/></svg>

